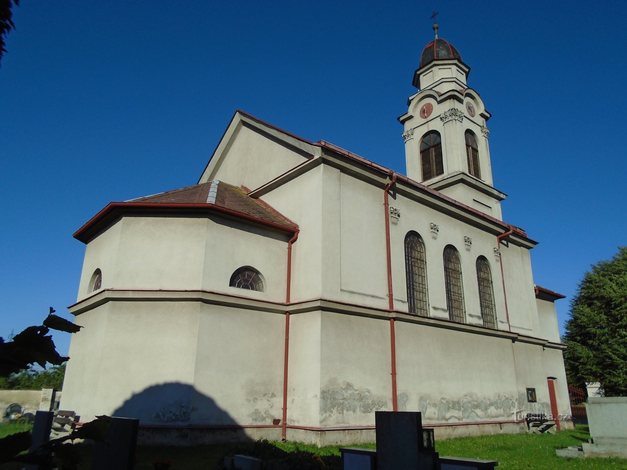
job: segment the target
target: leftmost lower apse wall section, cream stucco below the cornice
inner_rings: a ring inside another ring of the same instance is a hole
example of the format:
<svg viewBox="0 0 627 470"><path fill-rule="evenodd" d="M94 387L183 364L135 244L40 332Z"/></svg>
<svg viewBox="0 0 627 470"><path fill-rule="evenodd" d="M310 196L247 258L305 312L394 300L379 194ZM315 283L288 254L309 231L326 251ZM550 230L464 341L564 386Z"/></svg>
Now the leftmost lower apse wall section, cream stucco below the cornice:
<svg viewBox="0 0 627 470"><path fill-rule="evenodd" d="M199 306L111 302L76 316L84 328L71 340L61 409L142 422L189 411Z"/></svg>

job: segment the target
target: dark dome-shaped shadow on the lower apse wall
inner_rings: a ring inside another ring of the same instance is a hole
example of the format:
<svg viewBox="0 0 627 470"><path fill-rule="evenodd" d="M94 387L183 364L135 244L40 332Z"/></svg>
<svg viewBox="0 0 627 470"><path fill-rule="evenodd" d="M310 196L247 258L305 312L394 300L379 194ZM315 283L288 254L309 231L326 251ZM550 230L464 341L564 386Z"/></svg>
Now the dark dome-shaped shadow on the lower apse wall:
<svg viewBox="0 0 627 470"><path fill-rule="evenodd" d="M113 416L139 419L140 426L238 426L233 417L192 385L152 385L133 395Z"/></svg>

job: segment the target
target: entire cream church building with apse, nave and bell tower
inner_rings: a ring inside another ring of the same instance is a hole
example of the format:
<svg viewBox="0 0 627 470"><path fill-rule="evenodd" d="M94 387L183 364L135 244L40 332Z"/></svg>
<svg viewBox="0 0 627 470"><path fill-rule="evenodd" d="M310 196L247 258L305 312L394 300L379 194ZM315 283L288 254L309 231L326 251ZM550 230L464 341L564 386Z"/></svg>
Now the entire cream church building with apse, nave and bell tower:
<svg viewBox="0 0 627 470"><path fill-rule="evenodd" d="M196 184L104 207L74 234L61 408L168 444L373 442L376 410L436 438L572 427L564 296L503 221L469 72L436 29L399 117L406 175L238 110Z"/></svg>

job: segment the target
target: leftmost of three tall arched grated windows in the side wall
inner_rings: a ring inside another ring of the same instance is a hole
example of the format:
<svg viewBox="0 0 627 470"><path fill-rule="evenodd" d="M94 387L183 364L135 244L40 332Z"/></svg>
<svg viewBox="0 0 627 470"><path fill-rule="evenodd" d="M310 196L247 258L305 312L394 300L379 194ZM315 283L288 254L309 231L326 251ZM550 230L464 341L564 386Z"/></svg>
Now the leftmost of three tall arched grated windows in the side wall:
<svg viewBox="0 0 627 470"><path fill-rule="evenodd" d="M409 313L429 315L427 297L427 264L423 239L416 232L405 237L405 275Z"/></svg>

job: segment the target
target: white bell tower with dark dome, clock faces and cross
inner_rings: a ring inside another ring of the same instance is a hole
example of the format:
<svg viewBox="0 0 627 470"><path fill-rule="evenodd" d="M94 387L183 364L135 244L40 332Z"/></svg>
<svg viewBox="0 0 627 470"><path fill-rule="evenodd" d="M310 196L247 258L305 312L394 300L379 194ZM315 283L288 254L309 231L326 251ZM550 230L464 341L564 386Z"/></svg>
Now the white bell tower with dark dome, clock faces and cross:
<svg viewBox="0 0 627 470"><path fill-rule="evenodd" d="M418 93L398 118L404 125L409 178L502 220L507 197L492 182L486 123L490 118L477 91L468 88L470 67L456 48L438 38L427 44L414 72Z"/></svg>

